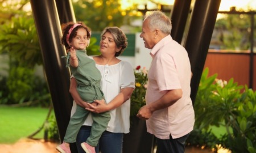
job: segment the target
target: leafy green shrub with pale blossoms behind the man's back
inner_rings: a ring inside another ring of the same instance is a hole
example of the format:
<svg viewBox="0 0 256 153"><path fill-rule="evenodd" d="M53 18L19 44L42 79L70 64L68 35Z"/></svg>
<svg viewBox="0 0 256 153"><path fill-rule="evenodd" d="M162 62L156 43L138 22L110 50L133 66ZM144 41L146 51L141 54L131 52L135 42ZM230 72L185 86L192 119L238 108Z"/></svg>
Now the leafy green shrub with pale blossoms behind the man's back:
<svg viewBox="0 0 256 153"><path fill-rule="evenodd" d="M233 153L256 152L256 91L238 86L233 78L226 82L217 79L217 74L208 76L208 72L207 68L201 76L194 104L195 130L187 143L210 148L221 144ZM225 127L226 134L217 138L211 126Z"/></svg>

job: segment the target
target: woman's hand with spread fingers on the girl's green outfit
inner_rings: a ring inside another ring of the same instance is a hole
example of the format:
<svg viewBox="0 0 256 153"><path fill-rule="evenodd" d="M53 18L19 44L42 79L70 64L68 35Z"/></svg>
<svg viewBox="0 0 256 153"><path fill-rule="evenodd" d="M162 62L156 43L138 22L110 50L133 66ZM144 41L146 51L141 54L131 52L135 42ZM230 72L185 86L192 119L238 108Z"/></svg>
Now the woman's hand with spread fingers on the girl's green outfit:
<svg viewBox="0 0 256 153"><path fill-rule="evenodd" d="M103 113L109 111L108 105L105 103L104 99L94 100L94 103L96 103L97 106L87 103L89 107L86 107L85 109L93 113Z"/></svg>

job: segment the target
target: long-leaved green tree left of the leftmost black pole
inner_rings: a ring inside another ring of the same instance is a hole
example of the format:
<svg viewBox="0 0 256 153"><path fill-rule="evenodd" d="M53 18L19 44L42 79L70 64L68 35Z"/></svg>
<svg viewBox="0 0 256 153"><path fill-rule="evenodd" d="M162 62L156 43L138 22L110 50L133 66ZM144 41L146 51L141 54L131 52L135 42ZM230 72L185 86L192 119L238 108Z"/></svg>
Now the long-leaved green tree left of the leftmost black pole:
<svg viewBox="0 0 256 153"><path fill-rule="evenodd" d="M13 17L1 26L0 53L8 53L15 66L42 65L42 56L32 16Z"/></svg>

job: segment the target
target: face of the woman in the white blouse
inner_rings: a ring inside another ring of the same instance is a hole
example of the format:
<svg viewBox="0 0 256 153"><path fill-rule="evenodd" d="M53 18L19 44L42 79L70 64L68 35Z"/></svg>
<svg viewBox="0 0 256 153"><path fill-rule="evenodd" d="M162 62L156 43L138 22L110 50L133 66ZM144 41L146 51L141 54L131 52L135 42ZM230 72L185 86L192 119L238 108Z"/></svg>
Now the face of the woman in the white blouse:
<svg viewBox="0 0 256 153"><path fill-rule="evenodd" d="M100 51L102 54L112 54L115 55L115 52L119 52L121 48L117 48L115 44L114 37L110 32L105 32L101 37L100 41Z"/></svg>

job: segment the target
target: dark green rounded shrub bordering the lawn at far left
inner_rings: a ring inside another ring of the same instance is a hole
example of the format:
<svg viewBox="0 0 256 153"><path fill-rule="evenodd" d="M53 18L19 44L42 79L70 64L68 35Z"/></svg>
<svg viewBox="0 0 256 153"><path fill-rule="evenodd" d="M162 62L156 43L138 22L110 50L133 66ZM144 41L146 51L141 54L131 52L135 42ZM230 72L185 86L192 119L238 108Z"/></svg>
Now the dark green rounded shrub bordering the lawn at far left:
<svg viewBox="0 0 256 153"><path fill-rule="evenodd" d="M47 83L34 75L34 69L17 66L10 69L9 77L2 78L0 104L40 105L48 107L51 101Z"/></svg>

